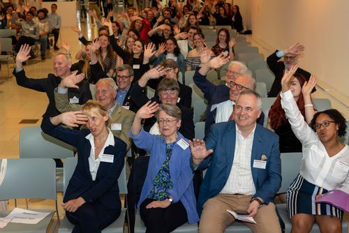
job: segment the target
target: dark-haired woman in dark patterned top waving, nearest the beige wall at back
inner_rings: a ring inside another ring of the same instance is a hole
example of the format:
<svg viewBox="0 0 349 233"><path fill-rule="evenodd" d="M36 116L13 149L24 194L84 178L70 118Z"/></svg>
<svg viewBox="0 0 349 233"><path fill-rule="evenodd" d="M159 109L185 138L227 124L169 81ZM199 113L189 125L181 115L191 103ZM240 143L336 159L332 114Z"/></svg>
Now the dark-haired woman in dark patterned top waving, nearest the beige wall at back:
<svg viewBox="0 0 349 233"><path fill-rule="evenodd" d="M234 45L235 39L232 38L230 40L230 33L228 29L219 29L216 38L216 45L212 47L212 52L214 52L214 56L218 56L222 52L229 54L230 61L234 61Z"/></svg>

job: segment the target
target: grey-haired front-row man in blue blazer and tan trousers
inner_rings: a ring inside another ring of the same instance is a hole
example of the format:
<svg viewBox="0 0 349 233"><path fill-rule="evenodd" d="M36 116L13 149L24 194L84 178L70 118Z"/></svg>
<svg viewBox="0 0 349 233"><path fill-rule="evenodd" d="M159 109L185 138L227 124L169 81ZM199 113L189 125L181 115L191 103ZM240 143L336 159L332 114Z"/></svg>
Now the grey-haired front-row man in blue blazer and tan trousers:
<svg viewBox="0 0 349 233"><path fill-rule="evenodd" d="M279 137L256 123L262 98L245 90L237 99L235 121L211 126L206 142L191 142L193 170L208 167L198 198L199 232L224 232L235 218L226 211L247 212L253 232L281 232L275 193L281 186Z"/></svg>

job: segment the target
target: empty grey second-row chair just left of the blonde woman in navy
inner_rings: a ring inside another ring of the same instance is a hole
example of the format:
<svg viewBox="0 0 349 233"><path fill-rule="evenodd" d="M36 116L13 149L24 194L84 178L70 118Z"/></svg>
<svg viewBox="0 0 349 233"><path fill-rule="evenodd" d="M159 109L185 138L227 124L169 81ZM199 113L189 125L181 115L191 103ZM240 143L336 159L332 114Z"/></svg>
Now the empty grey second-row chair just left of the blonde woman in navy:
<svg viewBox="0 0 349 233"><path fill-rule="evenodd" d="M20 158L68 158L74 156L74 147L43 133L40 126L20 130ZM63 192L63 169L57 167L57 191Z"/></svg>

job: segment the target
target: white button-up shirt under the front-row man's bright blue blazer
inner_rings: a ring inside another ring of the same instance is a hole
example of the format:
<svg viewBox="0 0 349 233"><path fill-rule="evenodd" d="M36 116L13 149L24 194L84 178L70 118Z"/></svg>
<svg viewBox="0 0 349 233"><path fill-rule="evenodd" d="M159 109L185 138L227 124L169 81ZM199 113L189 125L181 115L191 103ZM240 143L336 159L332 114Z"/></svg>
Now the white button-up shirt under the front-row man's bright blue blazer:
<svg viewBox="0 0 349 233"><path fill-rule="evenodd" d="M253 137L255 128L252 132L244 137L240 130L236 127L235 152L232 161L232 169L228 177L227 183L221 190L226 194L242 194L254 195L255 183L251 172L251 153L253 146Z"/></svg>

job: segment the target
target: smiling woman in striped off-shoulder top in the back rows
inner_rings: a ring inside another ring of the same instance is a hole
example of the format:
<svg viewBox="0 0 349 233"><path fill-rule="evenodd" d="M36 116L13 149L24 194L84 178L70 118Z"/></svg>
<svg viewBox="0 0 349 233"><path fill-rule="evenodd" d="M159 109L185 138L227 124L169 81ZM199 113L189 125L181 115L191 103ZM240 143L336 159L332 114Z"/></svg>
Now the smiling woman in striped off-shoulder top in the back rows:
<svg viewBox="0 0 349 233"><path fill-rule="evenodd" d="M207 50L204 34L200 32L194 34L194 45L195 49L188 52L186 56L186 70L195 70L200 65L200 56ZM214 52L209 50L209 56L213 57Z"/></svg>

